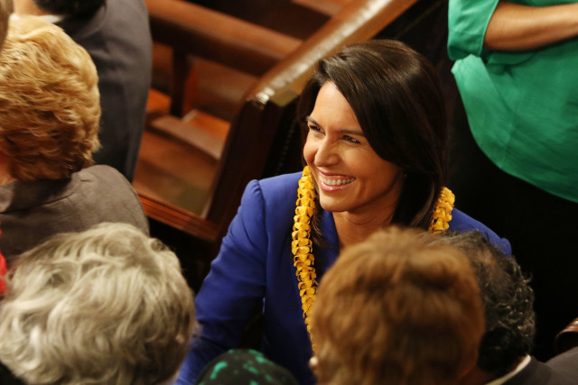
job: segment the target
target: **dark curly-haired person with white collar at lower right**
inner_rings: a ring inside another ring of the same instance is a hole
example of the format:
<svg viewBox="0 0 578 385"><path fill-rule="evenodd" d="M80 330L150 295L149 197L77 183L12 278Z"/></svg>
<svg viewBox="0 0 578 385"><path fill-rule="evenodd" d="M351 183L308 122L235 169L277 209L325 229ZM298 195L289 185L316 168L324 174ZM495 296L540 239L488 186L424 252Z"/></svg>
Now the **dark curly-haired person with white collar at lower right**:
<svg viewBox="0 0 578 385"><path fill-rule="evenodd" d="M486 330L478 363L460 384L576 384L576 379L530 355L536 335L534 291L516 259L500 252L479 232L447 233L432 239L460 249L480 286ZM566 365L575 363L566 361Z"/></svg>

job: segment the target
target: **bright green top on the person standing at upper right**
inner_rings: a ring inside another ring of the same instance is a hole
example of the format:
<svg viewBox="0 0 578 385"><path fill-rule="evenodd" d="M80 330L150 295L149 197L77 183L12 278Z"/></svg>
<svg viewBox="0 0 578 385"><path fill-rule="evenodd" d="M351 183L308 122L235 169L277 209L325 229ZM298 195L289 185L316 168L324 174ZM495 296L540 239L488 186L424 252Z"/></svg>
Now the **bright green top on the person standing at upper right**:
<svg viewBox="0 0 578 385"><path fill-rule="evenodd" d="M578 38L536 50L483 50L496 5L450 0L448 51L471 133L501 170L578 203Z"/></svg>

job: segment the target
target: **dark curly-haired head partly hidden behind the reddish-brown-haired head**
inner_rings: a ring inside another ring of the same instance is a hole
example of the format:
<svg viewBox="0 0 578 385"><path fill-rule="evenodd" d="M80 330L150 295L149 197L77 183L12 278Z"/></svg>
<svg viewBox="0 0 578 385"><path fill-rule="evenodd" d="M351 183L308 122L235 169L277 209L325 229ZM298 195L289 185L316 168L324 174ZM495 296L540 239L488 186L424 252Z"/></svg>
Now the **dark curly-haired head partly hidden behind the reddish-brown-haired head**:
<svg viewBox="0 0 578 385"><path fill-rule="evenodd" d="M536 333L534 292L516 259L479 232L444 234L443 242L464 252L480 284L486 332L478 368L500 377L530 353Z"/></svg>

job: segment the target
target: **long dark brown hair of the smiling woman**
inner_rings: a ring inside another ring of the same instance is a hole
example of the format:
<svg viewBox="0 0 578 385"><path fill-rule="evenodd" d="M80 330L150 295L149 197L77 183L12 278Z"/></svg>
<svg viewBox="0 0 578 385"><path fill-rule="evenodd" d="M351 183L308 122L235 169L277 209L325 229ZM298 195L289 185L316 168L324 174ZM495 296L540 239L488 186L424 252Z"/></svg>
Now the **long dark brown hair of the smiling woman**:
<svg viewBox="0 0 578 385"><path fill-rule="evenodd" d="M392 223L427 229L448 153L443 93L432 64L400 41L350 44L320 60L305 85L297 107L303 128L326 82L347 99L373 150L405 172Z"/></svg>

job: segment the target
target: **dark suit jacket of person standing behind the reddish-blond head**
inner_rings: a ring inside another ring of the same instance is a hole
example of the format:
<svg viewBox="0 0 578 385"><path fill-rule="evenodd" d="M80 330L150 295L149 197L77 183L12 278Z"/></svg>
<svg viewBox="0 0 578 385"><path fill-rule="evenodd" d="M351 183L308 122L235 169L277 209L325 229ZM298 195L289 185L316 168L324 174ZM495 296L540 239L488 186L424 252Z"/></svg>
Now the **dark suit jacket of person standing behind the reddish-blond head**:
<svg viewBox="0 0 578 385"><path fill-rule="evenodd" d="M146 5L143 0L107 0L90 20L67 19L58 25L97 66L102 148L94 160L132 180L153 63Z"/></svg>

